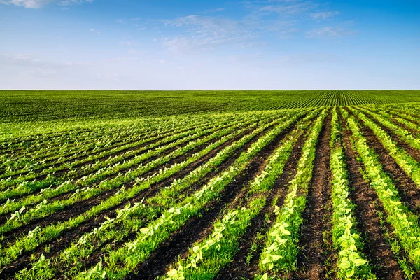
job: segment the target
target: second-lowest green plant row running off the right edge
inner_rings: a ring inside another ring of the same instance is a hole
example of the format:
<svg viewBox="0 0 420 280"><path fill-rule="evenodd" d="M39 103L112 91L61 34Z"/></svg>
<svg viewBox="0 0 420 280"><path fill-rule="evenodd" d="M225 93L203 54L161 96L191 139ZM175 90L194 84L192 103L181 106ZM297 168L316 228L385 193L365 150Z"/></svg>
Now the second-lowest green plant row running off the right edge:
<svg viewBox="0 0 420 280"><path fill-rule="evenodd" d="M351 109L353 111L353 109ZM384 145L386 151L389 155L397 162L397 164L404 170L404 172L416 183L417 186L420 186L420 164L411 155L396 144L391 137L379 127L374 121L370 118L367 118L365 114L360 111L353 111L356 113L356 116L363 120L363 123L369 127L374 134L377 136L381 144Z"/></svg>

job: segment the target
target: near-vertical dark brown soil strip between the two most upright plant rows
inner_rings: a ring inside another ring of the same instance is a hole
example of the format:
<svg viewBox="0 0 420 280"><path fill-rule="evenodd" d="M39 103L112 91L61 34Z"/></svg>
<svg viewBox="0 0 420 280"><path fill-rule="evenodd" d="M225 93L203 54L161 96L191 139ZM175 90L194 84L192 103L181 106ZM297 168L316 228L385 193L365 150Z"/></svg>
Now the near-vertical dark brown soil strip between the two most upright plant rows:
<svg viewBox="0 0 420 280"><path fill-rule="evenodd" d="M293 279L325 279L328 267L326 260L332 258L331 237L331 171L330 171L331 113L325 119L316 146L314 172L307 194L307 207L302 214L297 255L297 273Z"/></svg>

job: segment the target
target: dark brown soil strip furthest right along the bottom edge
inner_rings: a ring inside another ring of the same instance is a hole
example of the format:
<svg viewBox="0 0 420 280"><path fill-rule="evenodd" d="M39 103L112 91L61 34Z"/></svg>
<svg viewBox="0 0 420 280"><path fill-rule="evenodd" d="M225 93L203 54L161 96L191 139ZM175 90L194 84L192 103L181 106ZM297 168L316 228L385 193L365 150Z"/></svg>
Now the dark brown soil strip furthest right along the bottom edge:
<svg viewBox="0 0 420 280"><path fill-rule="evenodd" d="M346 127L342 116L340 116L340 119L342 127ZM394 258L391 246L386 243L384 232L381 230L381 220L377 211L381 211L383 214L385 211L381 207L377 194L367 186L363 175L360 173L363 167L356 160L356 153L351 148L351 132L348 129L344 129L343 132L344 153L351 189L350 196L357 206L354 214L358 222L358 230L365 240L365 253L372 270L378 279L405 279L398 261Z"/></svg>

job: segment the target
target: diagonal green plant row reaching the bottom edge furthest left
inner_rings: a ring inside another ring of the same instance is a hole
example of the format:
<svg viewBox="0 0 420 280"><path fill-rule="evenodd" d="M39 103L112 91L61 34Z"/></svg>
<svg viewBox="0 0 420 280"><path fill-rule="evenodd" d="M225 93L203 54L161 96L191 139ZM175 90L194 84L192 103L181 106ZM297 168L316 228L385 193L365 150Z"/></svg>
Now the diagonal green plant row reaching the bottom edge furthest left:
<svg viewBox="0 0 420 280"><path fill-rule="evenodd" d="M204 178L204 176L209 174L209 172L215 170L238 148L244 146L248 143L248 141L251 141L251 139L266 130L272 124L273 123L267 123L265 125L261 125L250 134L246 134L238 141L233 142L230 146L225 147L216 156L214 156L214 158L211 158L204 165L201 165L190 172L188 176L175 180L169 187L163 188L158 195L149 197L144 204L141 204L142 207L132 211L130 216L125 216L125 218L121 219L118 218L118 216L120 216L118 214L117 218L107 219L104 222L106 226L101 226L98 229L95 228L92 232L85 233L85 235L80 237L78 241L73 242L69 247L67 247L57 258L48 260L48 263L53 263L54 265L44 265L43 269L40 269L38 262L36 262L33 267L38 267L37 269L25 269L20 272L20 277L22 277L22 279L30 276L45 278L45 275L53 275L55 274L57 267L63 266L64 269L69 269L69 267L71 267L66 276L73 277L77 274L77 272L80 272L80 269L83 268L82 260L87 258L92 251L97 248L97 246L109 243L110 240L123 240L127 237L127 235L130 235L130 232L135 232L144 225L145 220L151 221L151 217L161 214L163 210L169 209L170 207L170 203L161 204L162 207L155 207L157 202L171 200L171 203L173 203L176 200L182 200L183 197L180 193L183 190L186 190L192 186L193 183L200 181L200 179ZM135 204L134 206L136 205L138 206L139 204Z"/></svg>

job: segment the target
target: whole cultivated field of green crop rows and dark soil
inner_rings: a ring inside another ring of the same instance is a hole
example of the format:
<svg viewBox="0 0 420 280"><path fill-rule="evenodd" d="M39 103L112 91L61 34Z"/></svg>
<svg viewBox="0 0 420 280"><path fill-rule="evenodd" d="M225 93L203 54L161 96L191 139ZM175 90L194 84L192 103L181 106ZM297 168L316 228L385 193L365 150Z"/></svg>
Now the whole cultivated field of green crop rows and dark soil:
<svg viewBox="0 0 420 280"><path fill-rule="evenodd" d="M0 98L0 279L420 278L420 90Z"/></svg>

